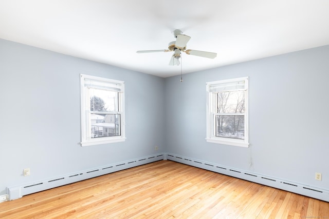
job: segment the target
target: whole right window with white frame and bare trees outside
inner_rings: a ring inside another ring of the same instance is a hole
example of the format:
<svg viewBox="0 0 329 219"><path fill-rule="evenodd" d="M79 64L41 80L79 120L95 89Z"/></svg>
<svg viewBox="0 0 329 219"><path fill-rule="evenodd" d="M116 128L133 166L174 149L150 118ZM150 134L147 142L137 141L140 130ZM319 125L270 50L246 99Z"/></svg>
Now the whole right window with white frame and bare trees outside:
<svg viewBox="0 0 329 219"><path fill-rule="evenodd" d="M206 140L248 147L248 77L207 83Z"/></svg>

